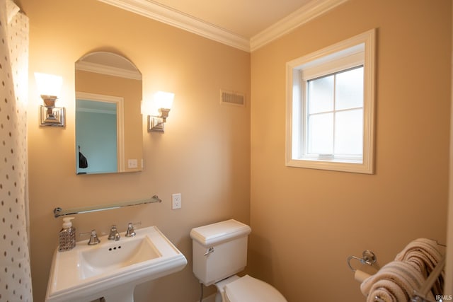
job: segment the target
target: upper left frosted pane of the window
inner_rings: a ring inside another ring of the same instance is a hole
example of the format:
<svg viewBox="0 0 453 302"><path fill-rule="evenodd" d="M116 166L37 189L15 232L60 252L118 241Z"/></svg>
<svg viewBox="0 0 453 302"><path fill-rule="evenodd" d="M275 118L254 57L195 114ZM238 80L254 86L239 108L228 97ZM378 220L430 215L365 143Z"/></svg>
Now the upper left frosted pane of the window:
<svg viewBox="0 0 453 302"><path fill-rule="evenodd" d="M309 81L309 113L333 110L333 76Z"/></svg>

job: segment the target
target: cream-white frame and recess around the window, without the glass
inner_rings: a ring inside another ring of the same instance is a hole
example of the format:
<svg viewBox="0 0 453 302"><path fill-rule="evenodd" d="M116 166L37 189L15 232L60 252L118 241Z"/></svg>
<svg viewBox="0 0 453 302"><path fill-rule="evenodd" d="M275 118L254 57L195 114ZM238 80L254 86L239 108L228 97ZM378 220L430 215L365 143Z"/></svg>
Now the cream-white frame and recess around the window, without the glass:
<svg viewBox="0 0 453 302"><path fill-rule="evenodd" d="M374 173L375 30L287 62L286 165L297 168ZM313 157L304 152L306 81L363 65L363 152L357 158Z"/></svg>

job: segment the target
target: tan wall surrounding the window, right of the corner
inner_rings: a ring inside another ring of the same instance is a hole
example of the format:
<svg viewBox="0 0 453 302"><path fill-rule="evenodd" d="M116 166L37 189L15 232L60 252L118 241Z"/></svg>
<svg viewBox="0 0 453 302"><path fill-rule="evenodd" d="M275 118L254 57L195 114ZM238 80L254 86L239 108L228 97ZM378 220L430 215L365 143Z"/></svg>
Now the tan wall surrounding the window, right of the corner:
<svg viewBox="0 0 453 302"><path fill-rule="evenodd" d="M445 243L451 5L350 0L253 52L249 264L288 301L363 301L348 255ZM285 167L285 63L371 28L376 173Z"/></svg>

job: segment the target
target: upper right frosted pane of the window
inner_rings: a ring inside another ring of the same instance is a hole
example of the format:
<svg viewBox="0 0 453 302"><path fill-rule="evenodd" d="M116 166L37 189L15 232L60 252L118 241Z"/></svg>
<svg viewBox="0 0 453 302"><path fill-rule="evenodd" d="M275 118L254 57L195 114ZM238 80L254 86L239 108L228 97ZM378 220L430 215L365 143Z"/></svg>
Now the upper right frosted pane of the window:
<svg viewBox="0 0 453 302"><path fill-rule="evenodd" d="M363 107L363 67L336 76L336 110Z"/></svg>

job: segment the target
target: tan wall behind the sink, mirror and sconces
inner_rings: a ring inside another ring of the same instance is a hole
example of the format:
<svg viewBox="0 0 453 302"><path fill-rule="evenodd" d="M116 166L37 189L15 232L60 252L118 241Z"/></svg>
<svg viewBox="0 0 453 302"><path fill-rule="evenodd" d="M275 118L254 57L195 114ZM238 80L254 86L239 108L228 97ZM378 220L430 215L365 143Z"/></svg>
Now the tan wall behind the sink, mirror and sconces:
<svg viewBox="0 0 453 302"><path fill-rule="evenodd" d="M96 0L19 4L30 18L28 151L35 301L44 301L57 247L62 219L53 217L55 207L153 194L164 202L79 214L74 226L78 232L108 232L112 223L124 232L128 221L158 226L189 264L182 272L138 286L135 301L196 301L200 286L192 273L190 229L231 217L249 222L250 106L220 105L219 89L250 95L250 54ZM74 62L96 50L127 56L143 74L144 98L158 90L176 94L165 134L149 134L143 127L141 173L75 175ZM67 108L65 129L38 127L35 71L63 76L58 105ZM171 194L178 192L183 207L172 211Z"/></svg>

